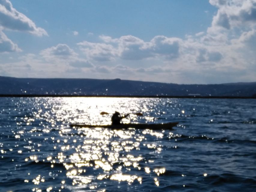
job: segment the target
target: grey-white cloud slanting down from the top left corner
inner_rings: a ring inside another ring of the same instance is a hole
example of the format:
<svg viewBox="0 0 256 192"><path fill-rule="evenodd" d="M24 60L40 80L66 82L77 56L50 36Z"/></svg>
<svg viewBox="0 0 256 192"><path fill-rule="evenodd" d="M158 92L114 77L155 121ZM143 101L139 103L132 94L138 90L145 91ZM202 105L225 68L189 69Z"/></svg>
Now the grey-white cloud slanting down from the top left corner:
<svg viewBox="0 0 256 192"><path fill-rule="evenodd" d="M33 35L48 35L23 13L17 11L9 0L0 0L0 26L4 29L28 32Z"/></svg>

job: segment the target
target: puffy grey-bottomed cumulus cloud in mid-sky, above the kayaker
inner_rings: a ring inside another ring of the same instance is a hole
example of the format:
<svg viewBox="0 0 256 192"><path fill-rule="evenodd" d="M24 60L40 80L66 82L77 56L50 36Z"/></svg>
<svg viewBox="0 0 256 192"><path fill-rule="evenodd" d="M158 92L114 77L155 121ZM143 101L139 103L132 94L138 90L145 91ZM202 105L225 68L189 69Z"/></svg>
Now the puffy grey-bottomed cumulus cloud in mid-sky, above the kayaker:
<svg viewBox="0 0 256 192"><path fill-rule="evenodd" d="M101 35L100 39L104 43L83 41L78 45L88 58L96 61L110 61L116 58L125 60L155 57L173 59L179 56L179 46L182 43L179 38L167 38L165 36L156 36L149 42L132 35L115 39Z"/></svg>

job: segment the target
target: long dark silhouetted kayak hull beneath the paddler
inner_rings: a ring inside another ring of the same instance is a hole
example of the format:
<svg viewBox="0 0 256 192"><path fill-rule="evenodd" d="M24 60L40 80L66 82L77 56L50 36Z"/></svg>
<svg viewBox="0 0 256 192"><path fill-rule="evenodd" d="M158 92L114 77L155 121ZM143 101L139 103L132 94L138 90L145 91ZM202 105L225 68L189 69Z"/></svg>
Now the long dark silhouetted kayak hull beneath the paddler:
<svg viewBox="0 0 256 192"><path fill-rule="evenodd" d="M162 129L172 129L172 127L178 125L179 122L169 122L162 124L135 124L127 123L120 125L86 125L86 124L70 124L70 127L83 127L83 128L110 128L110 129L152 129L152 130L162 130Z"/></svg>

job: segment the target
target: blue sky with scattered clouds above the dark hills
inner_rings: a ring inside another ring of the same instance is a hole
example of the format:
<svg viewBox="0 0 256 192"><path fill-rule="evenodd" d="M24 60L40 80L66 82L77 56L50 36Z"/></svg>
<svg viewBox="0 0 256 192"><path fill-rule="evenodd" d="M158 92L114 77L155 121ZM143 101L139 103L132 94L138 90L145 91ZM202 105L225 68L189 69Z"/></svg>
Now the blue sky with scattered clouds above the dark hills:
<svg viewBox="0 0 256 192"><path fill-rule="evenodd" d="M256 0L0 0L0 76L256 82Z"/></svg>

